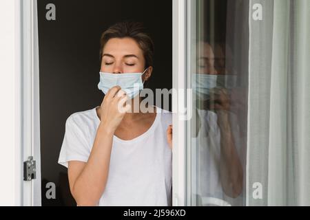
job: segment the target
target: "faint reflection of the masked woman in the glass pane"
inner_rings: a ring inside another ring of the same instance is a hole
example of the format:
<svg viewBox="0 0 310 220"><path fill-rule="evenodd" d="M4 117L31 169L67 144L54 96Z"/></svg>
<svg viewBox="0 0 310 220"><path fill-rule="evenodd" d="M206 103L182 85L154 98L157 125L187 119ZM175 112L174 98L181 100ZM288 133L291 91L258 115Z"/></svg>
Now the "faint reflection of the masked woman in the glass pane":
<svg viewBox="0 0 310 220"><path fill-rule="evenodd" d="M242 192L243 181L237 151L240 146L236 144L238 128L231 126L234 115L229 89L234 87L232 84L236 78L225 75L225 68L215 67L216 57L209 43L198 43L197 55L193 88L197 107L194 140L198 148L198 195L235 198Z"/></svg>

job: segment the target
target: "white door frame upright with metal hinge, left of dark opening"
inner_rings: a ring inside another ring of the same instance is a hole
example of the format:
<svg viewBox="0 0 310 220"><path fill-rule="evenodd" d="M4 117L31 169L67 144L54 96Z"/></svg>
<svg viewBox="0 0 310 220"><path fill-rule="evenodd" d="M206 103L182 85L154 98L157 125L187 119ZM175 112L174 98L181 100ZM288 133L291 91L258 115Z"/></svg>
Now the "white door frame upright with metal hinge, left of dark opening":
<svg viewBox="0 0 310 220"><path fill-rule="evenodd" d="M22 181L22 206L41 206L41 155L39 105L39 38L37 0L21 2L21 154L32 156L37 178Z"/></svg>

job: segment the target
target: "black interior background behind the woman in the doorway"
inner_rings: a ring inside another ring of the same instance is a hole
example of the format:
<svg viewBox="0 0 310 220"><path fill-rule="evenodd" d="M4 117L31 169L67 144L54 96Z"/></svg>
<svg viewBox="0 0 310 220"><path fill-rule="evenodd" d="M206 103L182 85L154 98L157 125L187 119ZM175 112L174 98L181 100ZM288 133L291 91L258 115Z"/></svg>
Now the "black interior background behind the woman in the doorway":
<svg viewBox="0 0 310 220"><path fill-rule="evenodd" d="M48 3L56 5L56 21L45 19ZM143 22L155 44L154 72L147 87L171 89L172 1L40 0L38 17L42 205L75 206L67 169L57 161L65 120L103 100L97 88L101 34L118 21ZM56 184L56 199L46 199L47 182Z"/></svg>

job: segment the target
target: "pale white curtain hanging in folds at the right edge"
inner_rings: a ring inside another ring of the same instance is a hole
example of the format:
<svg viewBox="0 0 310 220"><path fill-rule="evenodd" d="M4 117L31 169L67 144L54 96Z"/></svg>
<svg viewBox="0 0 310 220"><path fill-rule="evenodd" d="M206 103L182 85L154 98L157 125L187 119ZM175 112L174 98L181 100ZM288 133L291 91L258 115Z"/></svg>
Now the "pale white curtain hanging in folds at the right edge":
<svg viewBox="0 0 310 220"><path fill-rule="evenodd" d="M247 205L310 206L310 1L249 10Z"/></svg>

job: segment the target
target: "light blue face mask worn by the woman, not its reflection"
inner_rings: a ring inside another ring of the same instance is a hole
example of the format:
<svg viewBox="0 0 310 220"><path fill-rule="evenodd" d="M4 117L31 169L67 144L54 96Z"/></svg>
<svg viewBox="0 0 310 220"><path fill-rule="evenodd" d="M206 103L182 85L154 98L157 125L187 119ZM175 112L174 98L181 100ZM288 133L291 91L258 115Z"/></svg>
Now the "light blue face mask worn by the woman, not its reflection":
<svg viewBox="0 0 310 220"><path fill-rule="evenodd" d="M145 69L145 72L147 69ZM118 85L129 96L130 99L136 97L143 89L142 76L145 72L131 74L110 74L100 72L100 83L98 88L106 95L112 87Z"/></svg>

